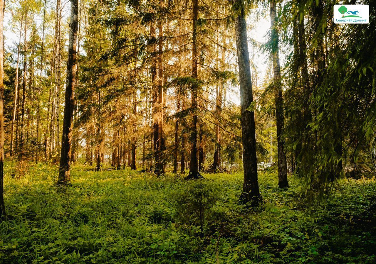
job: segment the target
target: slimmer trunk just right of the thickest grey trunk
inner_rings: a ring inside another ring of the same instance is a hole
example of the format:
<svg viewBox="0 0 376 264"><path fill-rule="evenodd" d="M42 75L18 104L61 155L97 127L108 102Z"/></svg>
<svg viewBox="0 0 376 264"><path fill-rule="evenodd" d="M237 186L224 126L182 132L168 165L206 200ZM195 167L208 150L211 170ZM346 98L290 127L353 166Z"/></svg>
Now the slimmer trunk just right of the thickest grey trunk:
<svg viewBox="0 0 376 264"><path fill-rule="evenodd" d="M273 61L274 74L274 101L276 107L277 123L277 154L278 154L278 186L288 187L287 160L285 154L284 109L282 97L281 71L279 64L279 35L277 29L276 0L270 1L270 24L271 24L271 58Z"/></svg>

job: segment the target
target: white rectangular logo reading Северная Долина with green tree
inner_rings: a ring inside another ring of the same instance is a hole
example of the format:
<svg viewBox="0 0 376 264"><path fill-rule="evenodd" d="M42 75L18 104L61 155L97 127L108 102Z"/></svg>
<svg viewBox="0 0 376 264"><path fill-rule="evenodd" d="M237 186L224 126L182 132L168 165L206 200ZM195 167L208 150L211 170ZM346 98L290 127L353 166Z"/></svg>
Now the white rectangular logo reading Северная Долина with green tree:
<svg viewBox="0 0 376 264"><path fill-rule="evenodd" d="M368 24L368 5L334 5L333 20L335 24Z"/></svg>

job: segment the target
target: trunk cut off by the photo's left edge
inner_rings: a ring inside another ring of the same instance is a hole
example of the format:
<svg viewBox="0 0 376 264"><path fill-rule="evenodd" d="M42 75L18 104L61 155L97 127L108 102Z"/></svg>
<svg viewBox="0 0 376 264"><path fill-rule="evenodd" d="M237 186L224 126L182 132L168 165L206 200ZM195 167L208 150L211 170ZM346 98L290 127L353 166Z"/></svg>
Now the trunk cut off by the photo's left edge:
<svg viewBox="0 0 376 264"><path fill-rule="evenodd" d="M6 217L4 204L4 79L3 79L3 18L4 2L0 1L0 219Z"/></svg>

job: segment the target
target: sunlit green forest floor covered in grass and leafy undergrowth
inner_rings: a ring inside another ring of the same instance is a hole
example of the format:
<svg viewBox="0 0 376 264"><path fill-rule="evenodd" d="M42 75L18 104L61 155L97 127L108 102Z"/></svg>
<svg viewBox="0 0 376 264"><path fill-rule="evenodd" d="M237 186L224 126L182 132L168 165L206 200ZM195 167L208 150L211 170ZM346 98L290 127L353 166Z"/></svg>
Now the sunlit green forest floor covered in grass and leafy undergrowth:
<svg viewBox="0 0 376 264"><path fill-rule="evenodd" d="M297 179L277 187L259 172L264 204L238 203L242 173L157 178L75 166L72 184L34 164L6 163L9 220L0 223L2 263L371 263L376 228L367 220L374 179L345 179L326 207L305 220Z"/></svg>

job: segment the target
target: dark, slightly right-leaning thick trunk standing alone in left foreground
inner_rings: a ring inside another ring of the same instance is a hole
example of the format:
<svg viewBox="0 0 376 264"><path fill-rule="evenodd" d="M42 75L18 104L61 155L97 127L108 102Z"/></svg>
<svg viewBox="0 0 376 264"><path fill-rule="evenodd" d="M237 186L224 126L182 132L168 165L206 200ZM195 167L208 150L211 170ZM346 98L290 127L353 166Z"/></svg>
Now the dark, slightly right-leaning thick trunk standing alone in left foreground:
<svg viewBox="0 0 376 264"><path fill-rule="evenodd" d="M69 45L67 60L67 81L65 84L65 106L61 139L59 184L70 182L70 160L72 147L74 89L76 85L76 42L78 26L78 0L71 0L69 24Z"/></svg>

